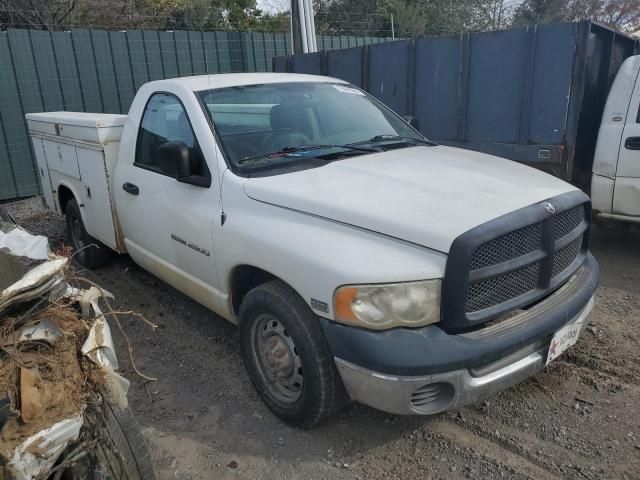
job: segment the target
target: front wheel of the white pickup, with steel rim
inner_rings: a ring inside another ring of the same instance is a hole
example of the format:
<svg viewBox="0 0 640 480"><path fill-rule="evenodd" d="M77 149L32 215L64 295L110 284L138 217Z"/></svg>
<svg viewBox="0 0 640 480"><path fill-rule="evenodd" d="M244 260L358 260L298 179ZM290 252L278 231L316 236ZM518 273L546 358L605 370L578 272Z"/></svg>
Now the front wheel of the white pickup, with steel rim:
<svg viewBox="0 0 640 480"><path fill-rule="evenodd" d="M310 428L347 402L318 319L284 282L262 284L244 298L240 345L258 394L283 420Z"/></svg>

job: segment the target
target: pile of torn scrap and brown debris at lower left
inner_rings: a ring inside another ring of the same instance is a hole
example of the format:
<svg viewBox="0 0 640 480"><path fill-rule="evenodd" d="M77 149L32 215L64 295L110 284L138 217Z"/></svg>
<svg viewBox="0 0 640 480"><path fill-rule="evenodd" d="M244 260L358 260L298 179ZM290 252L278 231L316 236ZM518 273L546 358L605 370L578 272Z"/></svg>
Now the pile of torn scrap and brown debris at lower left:
<svg viewBox="0 0 640 480"><path fill-rule="evenodd" d="M0 478L57 480L98 442L103 396L125 408L129 383L99 306L109 294L1 220Z"/></svg>

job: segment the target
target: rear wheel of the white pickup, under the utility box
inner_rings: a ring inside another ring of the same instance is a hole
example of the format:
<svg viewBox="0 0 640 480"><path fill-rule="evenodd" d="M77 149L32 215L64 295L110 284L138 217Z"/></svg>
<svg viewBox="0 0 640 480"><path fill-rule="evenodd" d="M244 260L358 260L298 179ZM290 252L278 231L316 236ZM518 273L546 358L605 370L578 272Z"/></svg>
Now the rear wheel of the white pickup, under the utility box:
<svg viewBox="0 0 640 480"><path fill-rule="evenodd" d="M67 221L67 235L74 249L74 258L87 268L98 268L109 263L111 249L87 233L80 207L75 199L69 200L64 215Z"/></svg>

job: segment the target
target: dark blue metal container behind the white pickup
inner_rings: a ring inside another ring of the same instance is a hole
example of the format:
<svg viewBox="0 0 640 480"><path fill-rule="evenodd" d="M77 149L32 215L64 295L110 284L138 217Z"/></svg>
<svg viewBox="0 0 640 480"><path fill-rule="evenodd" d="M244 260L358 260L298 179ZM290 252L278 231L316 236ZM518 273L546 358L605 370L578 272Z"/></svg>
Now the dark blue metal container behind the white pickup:
<svg viewBox="0 0 640 480"><path fill-rule="evenodd" d="M609 88L637 51L636 38L586 21L275 57L273 70L347 80L434 141L587 188Z"/></svg>

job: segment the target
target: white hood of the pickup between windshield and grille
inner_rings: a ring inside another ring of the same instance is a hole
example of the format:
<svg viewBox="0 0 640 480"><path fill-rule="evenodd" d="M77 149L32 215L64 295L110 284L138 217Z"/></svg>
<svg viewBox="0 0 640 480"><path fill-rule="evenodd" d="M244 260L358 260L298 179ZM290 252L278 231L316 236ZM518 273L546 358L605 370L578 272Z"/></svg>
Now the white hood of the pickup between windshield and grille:
<svg viewBox="0 0 640 480"><path fill-rule="evenodd" d="M447 253L477 225L575 187L539 170L453 147L410 147L248 179L257 201Z"/></svg>

